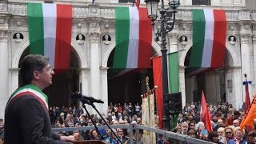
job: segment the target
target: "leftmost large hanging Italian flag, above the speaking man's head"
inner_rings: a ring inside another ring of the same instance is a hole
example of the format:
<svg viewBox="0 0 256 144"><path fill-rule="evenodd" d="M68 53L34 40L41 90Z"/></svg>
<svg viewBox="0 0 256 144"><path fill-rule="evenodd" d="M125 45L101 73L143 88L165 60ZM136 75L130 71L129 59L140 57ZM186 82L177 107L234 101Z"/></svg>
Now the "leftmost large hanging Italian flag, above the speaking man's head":
<svg viewBox="0 0 256 144"><path fill-rule="evenodd" d="M30 54L42 54L56 69L70 66L72 6L28 3Z"/></svg>

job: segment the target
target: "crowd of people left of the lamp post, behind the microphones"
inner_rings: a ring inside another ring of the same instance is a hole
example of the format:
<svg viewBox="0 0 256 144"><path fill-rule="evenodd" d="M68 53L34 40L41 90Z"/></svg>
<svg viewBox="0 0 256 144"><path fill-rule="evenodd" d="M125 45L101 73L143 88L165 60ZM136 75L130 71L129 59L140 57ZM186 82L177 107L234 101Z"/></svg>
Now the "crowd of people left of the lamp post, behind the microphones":
<svg viewBox="0 0 256 144"><path fill-rule="evenodd" d="M79 127L79 126L94 126L93 122L97 126L104 126L106 123L98 116L98 114L91 114L90 117L85 113L82 106L76 107L65 107L59 108L58 106L49 108L51 124L55 128L65 127ZM142 109L141 106L136 103L121 103L112 104L108 106L107 115L102 114L105 121L110 125L119 124L142 124ZM126 129L112 129L115 134L122 140L123 143L129 142L129 131ZM100 135L98 134L100 133ZM133 131L135 133L135 131ZM60 135L73 136L76 141L82 140L96 140L103 139L106 142L118 143L118 138L115 137L111 130L82 130L82 131L62 131L58 132ZM141 140L143 130L139 130L139 139Z"/></svg>

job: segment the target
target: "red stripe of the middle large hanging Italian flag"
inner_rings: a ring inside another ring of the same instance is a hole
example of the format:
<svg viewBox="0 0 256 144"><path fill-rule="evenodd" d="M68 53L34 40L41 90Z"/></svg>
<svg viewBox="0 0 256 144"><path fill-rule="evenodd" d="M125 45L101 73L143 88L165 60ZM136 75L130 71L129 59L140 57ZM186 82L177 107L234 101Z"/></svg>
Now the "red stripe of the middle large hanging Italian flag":
<svg viewBox="0 0 256 144"><path fill-rule="evenodd" d="M138 68L151 67L152 25L146 8L139 8Z"/></svg>

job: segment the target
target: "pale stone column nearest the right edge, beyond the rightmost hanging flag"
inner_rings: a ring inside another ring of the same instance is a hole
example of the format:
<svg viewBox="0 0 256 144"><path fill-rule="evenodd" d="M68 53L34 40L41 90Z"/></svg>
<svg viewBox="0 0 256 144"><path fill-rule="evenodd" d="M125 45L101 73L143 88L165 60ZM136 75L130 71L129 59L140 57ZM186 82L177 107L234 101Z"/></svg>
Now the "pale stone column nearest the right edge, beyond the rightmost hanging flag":
<svg viewBox="0 0 256 144"><path fill-rule="evenodd" d="M240 42L241 42L241 66L242 66L242 82L246 81L243 74L247 74L247 80L252 81L252 75L250 74L250 37L251 37L251 29L250 24L242 24L240 29ZM242 83L241 82L241 83ZM251 95L251 86L249 86L249 92ZM243 90L242 94L245 96L245 90ZM243 101L244 102L244 99Z"/></svg>

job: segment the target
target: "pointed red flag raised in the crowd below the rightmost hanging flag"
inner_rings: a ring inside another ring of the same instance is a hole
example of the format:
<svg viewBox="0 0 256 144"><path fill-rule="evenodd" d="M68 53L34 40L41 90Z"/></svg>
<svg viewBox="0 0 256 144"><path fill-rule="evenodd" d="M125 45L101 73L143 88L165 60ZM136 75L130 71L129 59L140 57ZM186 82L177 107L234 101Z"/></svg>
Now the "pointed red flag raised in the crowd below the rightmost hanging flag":
<svg viewBox="0 0 256 144"><path fill-rule="evenodd" d="M200 120L201 120L201 122L205 123L206 129L209 132L213 131L211 123L210 123L210 114L209 114L208 106L206 103L205 94L203 94L203 91L202 91L202 100L201 100Z"/></svg>

